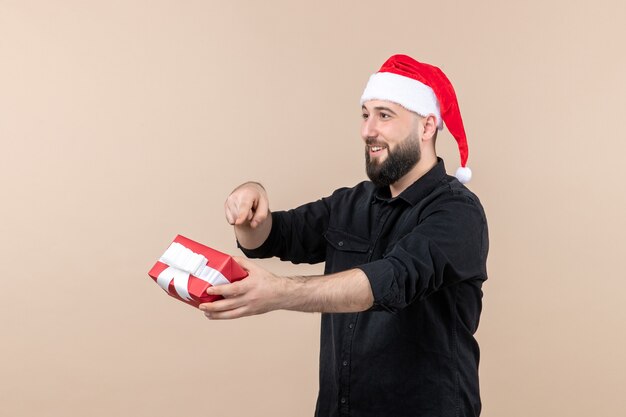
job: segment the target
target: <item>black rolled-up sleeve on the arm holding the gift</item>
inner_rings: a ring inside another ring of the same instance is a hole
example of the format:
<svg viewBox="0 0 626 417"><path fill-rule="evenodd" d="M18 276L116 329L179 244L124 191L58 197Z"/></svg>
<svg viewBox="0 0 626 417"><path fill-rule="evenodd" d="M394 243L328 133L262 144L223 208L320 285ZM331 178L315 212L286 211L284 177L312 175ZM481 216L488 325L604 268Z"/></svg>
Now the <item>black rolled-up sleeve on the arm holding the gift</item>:
<svg viewBox="0 0 626 417"><path fill-rule="evenodd" d="M358 266L370 281L374 309L402 309L455 283L486 279L487 223L480 203L450 195L382 259Z"/></svg>

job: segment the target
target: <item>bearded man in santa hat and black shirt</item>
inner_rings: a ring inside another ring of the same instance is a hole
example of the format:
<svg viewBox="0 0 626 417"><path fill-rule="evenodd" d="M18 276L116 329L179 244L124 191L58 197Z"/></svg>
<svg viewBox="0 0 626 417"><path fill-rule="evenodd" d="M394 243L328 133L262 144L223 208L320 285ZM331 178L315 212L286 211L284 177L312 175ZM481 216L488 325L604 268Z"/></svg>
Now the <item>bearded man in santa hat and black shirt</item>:
<svg viewBox="0 0 626 417"><path fill-rule="evenodd" d="M477 416L474 333L487 278L478 198L435 152L443 122L467 144L456 96L436 67L395 55L361 97L371 181L289 211L242 184L226 218L249 257L326 262L325 275L280 277L245 258L249 276L211 287L210 319L276 309L322 312L316 416Z"/></svg>

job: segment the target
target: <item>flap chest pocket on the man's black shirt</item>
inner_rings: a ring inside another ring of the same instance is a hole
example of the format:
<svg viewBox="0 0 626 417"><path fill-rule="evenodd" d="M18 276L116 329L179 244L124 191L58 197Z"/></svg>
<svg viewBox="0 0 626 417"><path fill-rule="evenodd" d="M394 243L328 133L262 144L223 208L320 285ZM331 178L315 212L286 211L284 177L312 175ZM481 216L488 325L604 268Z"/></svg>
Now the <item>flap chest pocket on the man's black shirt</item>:
<svg viewBox="0 0 626 417"><path fill-rule="evenodd" d="M324 237L328 242L325 273L345 271L369 260L367 239L336 229L328 229Z"/></svg>

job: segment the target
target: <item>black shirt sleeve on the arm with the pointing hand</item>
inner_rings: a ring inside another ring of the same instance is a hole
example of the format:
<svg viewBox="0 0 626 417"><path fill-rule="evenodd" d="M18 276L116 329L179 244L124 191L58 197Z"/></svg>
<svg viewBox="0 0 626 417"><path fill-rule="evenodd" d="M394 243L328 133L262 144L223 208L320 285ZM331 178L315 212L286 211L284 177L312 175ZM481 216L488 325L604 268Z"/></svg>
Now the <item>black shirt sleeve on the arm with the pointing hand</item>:
<svg viewBox="0 0 626 417"><path fill-rule="evenodd" d="M318 263L325 259L330 215L329 198L302 205L288 211L272 212L272 230L256 249L237 246L250 258L279 257L293 263Z"/></svg>

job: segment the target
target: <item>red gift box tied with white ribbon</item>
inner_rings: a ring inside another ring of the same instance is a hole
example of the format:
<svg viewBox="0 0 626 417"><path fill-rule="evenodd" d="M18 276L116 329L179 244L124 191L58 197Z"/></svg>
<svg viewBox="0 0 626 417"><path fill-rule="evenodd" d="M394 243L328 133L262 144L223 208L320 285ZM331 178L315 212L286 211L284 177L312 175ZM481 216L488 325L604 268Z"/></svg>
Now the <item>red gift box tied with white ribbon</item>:
<svg viewBox="0 0 626 417"><path fill-rule="evenodd" d="M172 297L194 307L222 298L213 285L239 281L248 273L232 257L178 235L148 275Z"/></svg>

